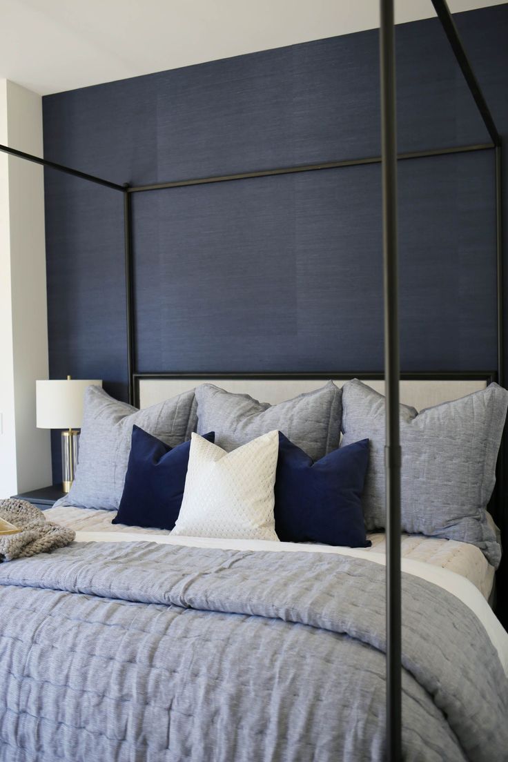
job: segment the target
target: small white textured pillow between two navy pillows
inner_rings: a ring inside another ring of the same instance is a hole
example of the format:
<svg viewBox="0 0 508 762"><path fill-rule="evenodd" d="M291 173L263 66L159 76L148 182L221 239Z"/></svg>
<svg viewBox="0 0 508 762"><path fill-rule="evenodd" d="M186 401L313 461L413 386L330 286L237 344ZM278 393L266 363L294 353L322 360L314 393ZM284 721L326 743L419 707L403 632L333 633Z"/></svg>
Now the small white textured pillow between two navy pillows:
<svg viewBox="0 0 508 762"><path fill-rule="evenodd" d="M273 517L278 454L278 431L232 453L192 434L184 500L172 534L279 539Z"/></svg>

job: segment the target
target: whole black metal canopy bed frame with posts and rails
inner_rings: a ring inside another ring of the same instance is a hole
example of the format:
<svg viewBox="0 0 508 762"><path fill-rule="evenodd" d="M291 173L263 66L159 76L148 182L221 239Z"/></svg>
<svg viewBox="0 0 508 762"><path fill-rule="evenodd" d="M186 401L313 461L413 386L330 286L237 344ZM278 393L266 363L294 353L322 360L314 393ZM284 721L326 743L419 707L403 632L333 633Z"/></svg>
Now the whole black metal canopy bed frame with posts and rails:
<svg viewBox="0 0 508 762"><path fill-rule="evenodd" d="M475 143L467 146L446 146L423 151L397 154L396 139L396 110L395 110L395 18L394 0L380 0L380 80L381 80L381 126L382 126L382 155L365 158L343 159L337 162L322 162L311 165L248 171L238 174L225 174L208 178L191 178L181 181L152 183L131 186L128 183L118 184L96 175L79 171L46 158L31 155L9 146L0 145L0 152L35 162L45 168L70 174L75 178L109 187L123 194L123 220L125 241L125 282L126 282L126 338L127 338L127 372L129 376L129 401L133 402L136 386L141 377L171 377L171 373L136 373L136 331L134 325L134 272L133 272L133 237L132 237L132 204L133 193L156 191L190 185L248 180L251 178L268 177L277 174L292 174L305 171L321 171L342 167L353 167L369 164L382 165L382 197L383 197L383 261L384 261L384 304L385 304L385 383L386 383L386 509L387 509L387 570L386 570L386 652L387 652L387 724L386 744L387 759L391 762L401 760L401 446L398 418L399 379L401 378L399 357L399 326L398 326L398 245L397 245L397 162L430 156L449 155L473 151L494 151L495 203L496 203L496 257L497 257L497 382L504 386L504 357L503 357L503 157L502 142L494 119L485 101L484 94L474 75L471 62L465 53L462 40L455 27L452 14L446 0L432 0L434 9L443 26L443 30L458 65L462 69L474 102L478 107L481 118L490 136L490 142ZM199 377L199 373L177 374L179 377ZM235 374L218 374L222 377ZM242 376L251 377L291 377L291 373L257 374L248 373ZM299 373L300 378L318 377L320 374ZM330 374L324 374L329 376ZM347 373L335 373L336 376L347 376ZM374 378L376 373L357 373L358 376ZM403 374L404 377L411 377ZM465 374L469 378L490 377L490 373ZM422 377L421 373L414 374ZM429 377L446 376L458 377L455 373L430 373ZM210 374L207 375L210 377ZM502 470L499 471L502 475ZM501 500L503 496L501 495Z"/></svg>

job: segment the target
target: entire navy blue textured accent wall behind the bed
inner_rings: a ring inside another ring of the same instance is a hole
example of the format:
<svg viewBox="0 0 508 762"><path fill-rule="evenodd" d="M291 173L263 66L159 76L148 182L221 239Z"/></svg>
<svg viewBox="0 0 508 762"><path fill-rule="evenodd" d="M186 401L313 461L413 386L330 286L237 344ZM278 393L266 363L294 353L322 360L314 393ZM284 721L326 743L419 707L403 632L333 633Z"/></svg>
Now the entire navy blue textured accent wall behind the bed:
<svg viewBox="0 0 508 762"><path fill-rule="evenodd" d="M506 133L508 5L455 19ZM45 155L132 184L376 155L378 56L372 30L46 96ZM401 151L487 140L436 19L398 27L397 63ZM494 157L399 166L403 369L495 369ZM133 213L138 370L382 368L379 167ZM46 239L50 374L125 399L121 194L46 171Z"/></svg>

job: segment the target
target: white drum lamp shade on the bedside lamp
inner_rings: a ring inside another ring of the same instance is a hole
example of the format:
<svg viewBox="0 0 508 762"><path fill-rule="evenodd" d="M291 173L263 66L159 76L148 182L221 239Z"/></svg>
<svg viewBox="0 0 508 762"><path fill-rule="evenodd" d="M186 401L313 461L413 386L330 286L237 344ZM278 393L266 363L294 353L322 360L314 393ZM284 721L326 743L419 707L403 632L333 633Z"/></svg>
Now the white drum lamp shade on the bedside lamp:
<svg viewBox="0 0 508 762"><path fill-rule="evenodd" d="M87 386L102 386L102 381L36 381L37 428L81 428Z"/></svg>

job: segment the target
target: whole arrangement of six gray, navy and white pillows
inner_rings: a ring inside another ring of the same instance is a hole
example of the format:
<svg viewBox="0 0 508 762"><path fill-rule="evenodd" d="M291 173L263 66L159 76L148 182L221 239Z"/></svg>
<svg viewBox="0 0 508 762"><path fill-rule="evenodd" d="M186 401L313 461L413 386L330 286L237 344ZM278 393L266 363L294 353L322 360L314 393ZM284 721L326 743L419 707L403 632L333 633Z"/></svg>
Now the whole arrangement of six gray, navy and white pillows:
<svg viewBox="0 0 508 762"><path fill-rule="evenodd" d="M499 564L486 507L507 406L494 383L420 415L401 405L404 531ZM141 411L91 386L60 504L177 535L367 547L385 527L384 439L385 399L356 379L280 405L203 384Z"/></svg>

